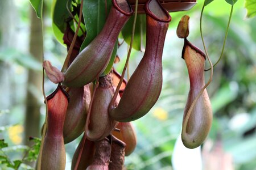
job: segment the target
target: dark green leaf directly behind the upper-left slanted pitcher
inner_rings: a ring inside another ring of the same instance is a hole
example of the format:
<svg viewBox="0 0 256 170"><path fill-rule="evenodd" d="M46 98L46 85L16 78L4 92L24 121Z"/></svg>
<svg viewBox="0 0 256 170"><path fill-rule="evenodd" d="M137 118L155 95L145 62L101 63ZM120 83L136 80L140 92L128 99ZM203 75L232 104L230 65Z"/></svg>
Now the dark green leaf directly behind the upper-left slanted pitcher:
<svg viewBox="0 0 256 170"><path fill-rule="evenodd" d="M112 1L107 0L108 11L112 6ZM84 49L90 42L101 32L106 22L105 1L86 0L82 7L84 22L86 27L86 37L81 45L80 51Z"/></svg>

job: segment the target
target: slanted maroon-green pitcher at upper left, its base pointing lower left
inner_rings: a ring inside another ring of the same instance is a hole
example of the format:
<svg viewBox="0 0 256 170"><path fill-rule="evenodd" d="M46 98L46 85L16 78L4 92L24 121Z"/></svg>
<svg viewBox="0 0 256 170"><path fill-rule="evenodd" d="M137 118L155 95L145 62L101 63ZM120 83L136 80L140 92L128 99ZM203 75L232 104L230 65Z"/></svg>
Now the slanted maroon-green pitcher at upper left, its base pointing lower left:
<svg viewBox="0 0 256 170"><path fill-rule="evenodd" d="M102 31L68 67L63 84L81 87L95 80L109 63L115 42L123 25L133 14L126 0L113 0L113 6Z"/></svg>

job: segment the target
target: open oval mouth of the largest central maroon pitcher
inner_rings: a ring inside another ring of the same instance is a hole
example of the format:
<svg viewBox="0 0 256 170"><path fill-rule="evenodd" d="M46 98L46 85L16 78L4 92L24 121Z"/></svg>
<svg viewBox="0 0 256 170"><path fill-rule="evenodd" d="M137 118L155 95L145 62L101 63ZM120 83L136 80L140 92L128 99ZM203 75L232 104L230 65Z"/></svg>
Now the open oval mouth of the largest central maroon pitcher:
<svg viewBox="0 0 256 170"><path fill-rule="evenodd" d="M161 5L158 0L149 0L144 6L147 15L150 15L159 22L170 22L171 16L169 12Z"/></svg>

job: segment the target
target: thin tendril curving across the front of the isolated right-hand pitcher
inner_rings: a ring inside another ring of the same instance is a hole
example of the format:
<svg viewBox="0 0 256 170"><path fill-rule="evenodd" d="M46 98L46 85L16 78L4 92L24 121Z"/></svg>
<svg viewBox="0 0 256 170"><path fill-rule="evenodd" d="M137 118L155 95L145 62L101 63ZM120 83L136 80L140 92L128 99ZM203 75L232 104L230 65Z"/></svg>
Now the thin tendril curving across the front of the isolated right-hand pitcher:
<svg viewBox="0 0 256 170"><path fill-rule="evenodd" d="M200 33L201 33L201 38L202 38L202 41L203 41L203 45L204 45L204 50L205 50L205 56L207 56L207 59L208 59L208 62L210 64L210 78L208 80L208 82L204 85L204 87L201 89L201 91L199 92L199 94L196 96L196 99L193 100L191 106L189 107L188 109L188 112L184 118L184 122L183 122L183 128L182 128L182 132L184 134L187 134L186 132L186 128L187 128L187 124L188 124L188 120L189 120L189 117L191 116L191 113L192 113L192 110L195 108L195 105L196 105L196 102L197 100L199 99L199 97L201 96L201 94L203 94L204 90L209 86L210 82L212 82L212 77L213 77L213 64L212 64L212 61L210 61L210 57L208 55L208 52L207 52L207 49L205 48L205 44L204 44L204 39L203 39L203 34L202 34L202 25L201 25L201 21L202 21L202 16L203 16L203 11L204 11L204 7L202 8L202 11L201 11L201 16L200 16Z"/></svg>

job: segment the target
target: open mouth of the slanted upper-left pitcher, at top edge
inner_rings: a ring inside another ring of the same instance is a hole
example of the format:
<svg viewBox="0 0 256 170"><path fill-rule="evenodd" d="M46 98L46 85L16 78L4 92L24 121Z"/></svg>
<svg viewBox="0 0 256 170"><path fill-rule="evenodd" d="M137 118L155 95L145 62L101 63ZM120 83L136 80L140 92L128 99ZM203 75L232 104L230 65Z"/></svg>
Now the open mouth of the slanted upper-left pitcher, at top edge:
<svg viewBox="0 0 256 170"><path fill-rule="evenodd" d="M133 15L133 8L127 0L112 0L113 6L122 14L130 16Z"/></svg>

